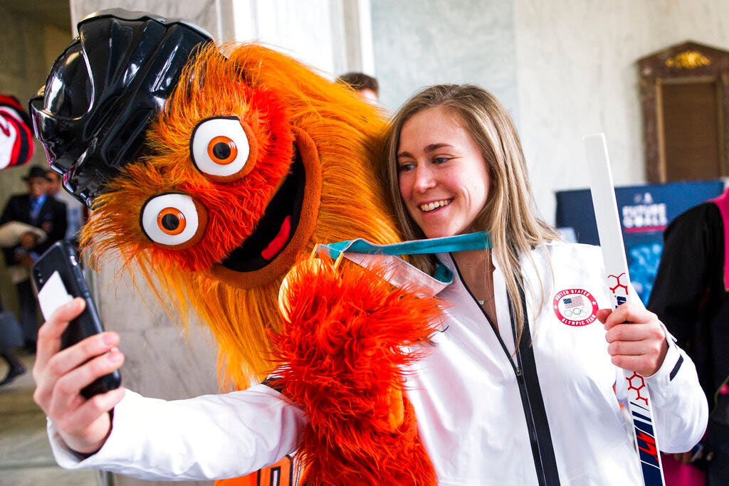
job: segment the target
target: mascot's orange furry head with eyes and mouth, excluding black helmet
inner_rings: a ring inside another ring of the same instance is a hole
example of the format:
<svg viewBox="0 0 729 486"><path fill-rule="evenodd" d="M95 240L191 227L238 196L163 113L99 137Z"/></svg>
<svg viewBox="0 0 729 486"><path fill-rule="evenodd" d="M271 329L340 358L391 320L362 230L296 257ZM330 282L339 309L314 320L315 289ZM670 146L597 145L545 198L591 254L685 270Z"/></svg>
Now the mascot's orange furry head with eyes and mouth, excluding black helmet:
<svg viewBox="0 0 729 486"><path fill-rule="evenodd" d="M297 256L398 234L375 176L381 115L276 51L228 50L208 47L187 66L189 82L149 130L152 155L109 182L83 241L152 269L181 316L211 327L222 371L241 388L271 372L268 330L280 330L278 288ZM238 160L215 144L235 146Z"/></svg>

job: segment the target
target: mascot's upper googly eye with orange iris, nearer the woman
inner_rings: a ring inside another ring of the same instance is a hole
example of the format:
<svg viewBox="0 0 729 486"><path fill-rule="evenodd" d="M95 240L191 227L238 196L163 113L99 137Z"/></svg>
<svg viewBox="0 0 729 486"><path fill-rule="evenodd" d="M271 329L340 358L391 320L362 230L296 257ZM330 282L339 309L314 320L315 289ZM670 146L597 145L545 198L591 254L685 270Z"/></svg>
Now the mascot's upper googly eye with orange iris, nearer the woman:
<svg viewBox="0 0 729 486"><path fill-rule="evenodd" d="M252 130L237 117L204 119L190 138L192 163L213 181L235 181L245 176L253 168L256 152Z"/></svg>

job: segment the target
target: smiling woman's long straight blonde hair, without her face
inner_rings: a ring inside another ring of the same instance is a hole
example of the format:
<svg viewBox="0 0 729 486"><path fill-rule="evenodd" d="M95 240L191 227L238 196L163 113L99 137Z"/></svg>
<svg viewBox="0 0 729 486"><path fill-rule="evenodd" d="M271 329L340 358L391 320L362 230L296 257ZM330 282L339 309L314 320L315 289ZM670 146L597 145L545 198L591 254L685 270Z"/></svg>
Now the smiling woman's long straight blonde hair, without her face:
<svg viewBox="0 0 729 486"><path fill-rule="evenodd" d="M521 339L524 312L520 293L521 256L529 256L536 246L558 239L553 227L537 218L529 187L526 161L521 142L511 117L502 103L491 93L474 85L435 85L413 95L392 119L386 139L386 180L394 205L395 217L403 236L408 239L425 238L424 233L410 217L399 192L397 152L402 126L414 115L426 109L441 107L459 117L480 149L488 166L491 187L488 200L477 216L475 227L488 230L493 243L492 254L504 270L507 293L512 305L512 318L517 329L517 342ZM413 264L432 273L434 259L413 256ZM540 289L543 301L544 289Z"/></svg>

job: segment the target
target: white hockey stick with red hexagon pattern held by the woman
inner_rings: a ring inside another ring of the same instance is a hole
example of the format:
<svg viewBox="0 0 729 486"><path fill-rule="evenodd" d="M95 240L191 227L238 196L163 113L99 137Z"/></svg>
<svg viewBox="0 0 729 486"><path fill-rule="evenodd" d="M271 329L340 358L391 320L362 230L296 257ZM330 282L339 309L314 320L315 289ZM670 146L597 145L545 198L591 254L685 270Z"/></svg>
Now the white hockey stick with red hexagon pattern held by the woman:
<svg viewBox="0 0 729 486"><path fill-rule="evenodd" d="M617 214L615 187L612 185L612 173L604 134L586 136L584 141L590 173L590 191L595 207L602 257L605 262L605 280L612 291L612 306L615 308L634 298L634 295L629 294L628 291L630 275L628 275L628 262L625 260L620 218ZM658 442L655 439L655 424L648 387L641 375L628 370L624 371L625 380L628 380L628 409L633 421L643 484L645 486L663 486L665 485L663 466L660 463Z"/></svg>

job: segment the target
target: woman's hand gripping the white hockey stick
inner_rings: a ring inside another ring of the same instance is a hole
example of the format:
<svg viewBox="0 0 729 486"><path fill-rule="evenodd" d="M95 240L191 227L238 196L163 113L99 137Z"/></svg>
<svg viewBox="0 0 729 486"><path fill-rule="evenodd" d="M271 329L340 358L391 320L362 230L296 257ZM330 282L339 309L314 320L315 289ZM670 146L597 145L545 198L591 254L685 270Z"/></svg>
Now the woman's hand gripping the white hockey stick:
<svg viewBox="0 0 729 486"><path fill-rule="evenodd" d="M644 377L658 371L666 358L668 342L657 315L627 302L615 310L598 310L597 318L607 331L612 364Z"/></svg>

